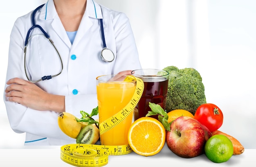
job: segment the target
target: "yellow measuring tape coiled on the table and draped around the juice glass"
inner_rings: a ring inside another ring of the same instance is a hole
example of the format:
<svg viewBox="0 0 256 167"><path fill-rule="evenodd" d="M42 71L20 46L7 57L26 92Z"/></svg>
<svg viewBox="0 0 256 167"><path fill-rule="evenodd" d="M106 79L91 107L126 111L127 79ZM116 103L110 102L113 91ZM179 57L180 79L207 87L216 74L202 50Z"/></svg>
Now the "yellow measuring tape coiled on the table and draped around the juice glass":
<svg viewBox="0 0 256 167"><path fill-rule="evenodd" d="M144 82L135 76L126 77L124 81L136 80L135 92L128 104L117 114L99 125L100 134L114 128L122 122L136 107L144 90ZM125 155L132 152L130 145L88 145L69 144L61 147L61 160L77 167L101 167L108 164L109 155Z"/></svg>

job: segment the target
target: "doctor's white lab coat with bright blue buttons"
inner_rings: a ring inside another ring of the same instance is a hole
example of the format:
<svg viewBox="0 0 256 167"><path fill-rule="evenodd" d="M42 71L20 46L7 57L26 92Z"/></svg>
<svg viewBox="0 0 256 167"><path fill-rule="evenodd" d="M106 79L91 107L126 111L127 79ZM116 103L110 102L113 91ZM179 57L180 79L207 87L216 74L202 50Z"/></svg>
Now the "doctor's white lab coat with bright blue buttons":
<svg viewBox="0 0 256 167"><path fill-rule="evenodd" d="M6 80L15 77L27 80L24 70L24 45L27 31L32 26L31 13L32 11L18 18L11 31ZM106 45L115 54L113 62L103 62L100 59L103 42L99 18L103 18ZM53 0L47 2L47 7L44 5L37 11L35 21L49 34L63 61L63 72L59 76L37 82L36 85L51 94L64 95L66 112L78 118L81 117L81 110L90 113L98 105L97 76L141 68L132 29L124 13L87 0L86 10L73 45L56 13ZM60 60L53 47L49 45L49 40L45 40L46 38L39 34L43 33L38 28L31 31L32 40L27 47L27 73L32 80L55 75L61 70ZM72 55L76 56L75 60L72 60ZM74 89L78 94L72 93ZM9 102L5 96L4 102L13 131L26 132L25 145L75 143L75 139L68 137L59 129L58 113L30 109Z"/></svg>

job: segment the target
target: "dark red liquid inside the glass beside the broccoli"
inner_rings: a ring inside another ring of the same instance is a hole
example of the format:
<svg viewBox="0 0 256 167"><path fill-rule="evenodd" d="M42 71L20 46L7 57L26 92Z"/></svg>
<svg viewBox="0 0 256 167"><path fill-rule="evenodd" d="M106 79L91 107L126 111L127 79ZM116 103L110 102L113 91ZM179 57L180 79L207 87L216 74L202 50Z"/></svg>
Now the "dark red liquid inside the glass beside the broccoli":
<svg viewBox="0 0 256 167"><path fill-rule="evenodd" d="M151 111L149 102L160 105L165 109L168 78L158 78L159 82L150 82L150 78L144 78L144 91L134 110L134 120L146 116ZM154 79L155 80L155 79ZM162 80L162 81L161 81ZM158 119L158 116L150 116Z"/></svg>

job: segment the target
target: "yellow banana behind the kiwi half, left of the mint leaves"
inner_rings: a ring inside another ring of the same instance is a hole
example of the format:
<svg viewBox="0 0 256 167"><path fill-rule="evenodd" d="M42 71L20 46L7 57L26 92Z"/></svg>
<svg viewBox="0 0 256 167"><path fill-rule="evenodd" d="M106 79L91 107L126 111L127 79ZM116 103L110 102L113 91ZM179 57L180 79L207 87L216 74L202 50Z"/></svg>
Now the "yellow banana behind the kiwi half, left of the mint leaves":
<svg viewBox="0 0 256 167"><path fill-rule="evenodd" d="M86 122L77 122L76 116L61 112L58 115L58 126L60 129L71 138L76 138L83 127L87 125Z"/></svg>

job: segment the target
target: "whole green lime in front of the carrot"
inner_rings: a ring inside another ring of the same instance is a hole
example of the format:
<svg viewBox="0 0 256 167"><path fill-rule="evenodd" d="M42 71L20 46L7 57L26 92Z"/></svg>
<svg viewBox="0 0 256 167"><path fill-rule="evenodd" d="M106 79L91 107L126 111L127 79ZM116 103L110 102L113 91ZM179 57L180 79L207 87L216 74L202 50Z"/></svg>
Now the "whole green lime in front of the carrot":
<svg viewBox="0 0 256 167"><path fill-rule="evenodd" d="M204 146L205 155L214 163L224 163L233 155L233 144L227 136L213 135Z"/></svg>

